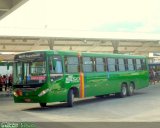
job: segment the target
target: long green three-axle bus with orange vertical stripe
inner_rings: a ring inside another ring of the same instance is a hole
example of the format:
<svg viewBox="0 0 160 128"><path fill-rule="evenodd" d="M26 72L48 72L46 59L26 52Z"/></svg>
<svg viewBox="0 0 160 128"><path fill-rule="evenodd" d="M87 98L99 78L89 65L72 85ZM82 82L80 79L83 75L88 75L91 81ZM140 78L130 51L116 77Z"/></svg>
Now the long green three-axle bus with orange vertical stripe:
<svg viewBox="0 0 160 128"><path fill-rule="evenodd" d="M149 85L145 56L46 50L17 54L14 61L15 103L72 107L74 98L126 97Z"/></svg>

